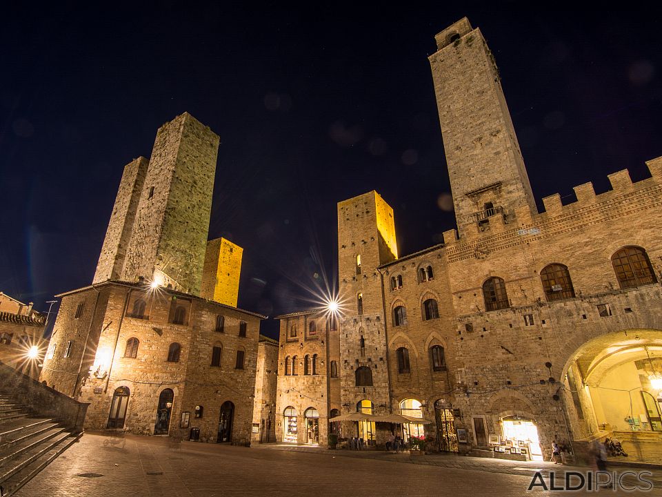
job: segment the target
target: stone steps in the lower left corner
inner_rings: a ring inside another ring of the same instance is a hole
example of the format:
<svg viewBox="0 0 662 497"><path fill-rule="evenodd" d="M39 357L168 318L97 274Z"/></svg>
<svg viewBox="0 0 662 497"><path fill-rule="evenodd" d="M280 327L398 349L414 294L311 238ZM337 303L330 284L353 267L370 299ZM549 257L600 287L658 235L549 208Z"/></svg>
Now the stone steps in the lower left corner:
<svg viewBox="0 0 662 497"><path fill-rule="evenodd" d="M11 391L0 391L0 487L14 495L82 436L75 427L40 416Z"/></svg>

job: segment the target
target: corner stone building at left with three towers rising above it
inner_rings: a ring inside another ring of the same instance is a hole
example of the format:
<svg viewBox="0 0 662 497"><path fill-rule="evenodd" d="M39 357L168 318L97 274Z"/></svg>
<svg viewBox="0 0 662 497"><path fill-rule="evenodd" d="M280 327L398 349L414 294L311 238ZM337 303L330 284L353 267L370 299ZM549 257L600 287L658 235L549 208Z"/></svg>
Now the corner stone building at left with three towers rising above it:
<svg viewBox="0 0 662 497"><path fill-rule="evenodd" d="M88 429L250 443L264 316L237 309L241 247L207 241L218 145L187 113L159 128L124 169L92 285L58 295L40 379L90 403Z"/></svg>

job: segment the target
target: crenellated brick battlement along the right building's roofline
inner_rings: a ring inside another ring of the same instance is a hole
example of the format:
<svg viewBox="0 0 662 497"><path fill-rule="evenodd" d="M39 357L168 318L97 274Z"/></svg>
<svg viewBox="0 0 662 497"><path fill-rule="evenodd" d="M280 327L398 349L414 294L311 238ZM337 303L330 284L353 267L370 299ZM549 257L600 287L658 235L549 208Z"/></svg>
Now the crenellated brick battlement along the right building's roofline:
<svg viewBox="0 0 662 497"><path fill-rule="evenodd" d="M577 197L576 202L563 204L559 193L543 197L545 212L541 213L541 215L561 215L570 211L576 211L579 208L592 206L599 202L612 200L614 197L627 195L634 191L642 190L643 188L650 188L651 186L662 184L662 157L647 161L646 166L648 166L648 170L650 170L650 178L642 179L639 182L633 183L630 178L630 172L627 169L619 170L616 171L616 173L607 176L612 189L605 193L600 193L599 195L596 195L592 182L575 186L572 189Z"/></svg>

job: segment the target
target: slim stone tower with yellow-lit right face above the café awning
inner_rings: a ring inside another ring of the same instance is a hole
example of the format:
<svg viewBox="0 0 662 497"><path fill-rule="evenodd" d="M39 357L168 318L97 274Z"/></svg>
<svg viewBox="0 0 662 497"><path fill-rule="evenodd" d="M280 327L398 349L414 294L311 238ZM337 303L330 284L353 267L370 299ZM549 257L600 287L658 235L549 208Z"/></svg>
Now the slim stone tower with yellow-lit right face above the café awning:
<svg viewBox="0 0 662 497"><path fill-rule="evenodd" d="M383 283L377 268L397 257L393 209L379 193L339 202L341 401L350 411L361 400L370 400L375 413L385 413L390 406ZM361 367L370 369L372 386L357 386Z"/></svg>

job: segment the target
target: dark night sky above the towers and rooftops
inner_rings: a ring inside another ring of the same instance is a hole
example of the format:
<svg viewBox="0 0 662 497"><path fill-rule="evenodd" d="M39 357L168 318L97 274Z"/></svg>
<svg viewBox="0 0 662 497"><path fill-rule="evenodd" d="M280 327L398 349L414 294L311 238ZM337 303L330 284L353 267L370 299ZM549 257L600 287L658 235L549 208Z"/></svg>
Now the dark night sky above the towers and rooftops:
<svg viewBox="0 0 662 497"><path fill-rule="evenodd" d="M239 306L309 305L337 271L337 202L372 189L401 254L439 242L454 217L427 57L463 16L539 205L662 155L662 23L643 7L17 3L0 16L0 291L37 309L90 284L123 166L185 110L221 136L210 238L244 247Z"/></svg>

